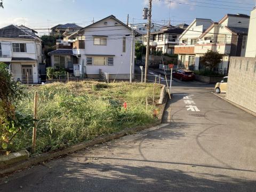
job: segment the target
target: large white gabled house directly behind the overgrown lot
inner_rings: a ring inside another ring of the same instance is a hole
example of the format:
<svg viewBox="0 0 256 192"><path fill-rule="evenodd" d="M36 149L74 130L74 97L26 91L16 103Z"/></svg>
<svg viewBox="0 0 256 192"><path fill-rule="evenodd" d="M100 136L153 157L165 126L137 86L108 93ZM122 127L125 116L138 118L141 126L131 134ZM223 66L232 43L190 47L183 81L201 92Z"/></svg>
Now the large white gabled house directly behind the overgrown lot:
<svg viewBox="0 0 256 192"><path fill-rule="evenodd" d="M134 46L131 51L132 29L114 15L76 31L68 41L70 47L63 47L67 49L49 53L53 68L73 68L74 74L79 69L81 76L89 78L99 78L100 71L108 73L110 79L130 78L135 50Z"/></svg>

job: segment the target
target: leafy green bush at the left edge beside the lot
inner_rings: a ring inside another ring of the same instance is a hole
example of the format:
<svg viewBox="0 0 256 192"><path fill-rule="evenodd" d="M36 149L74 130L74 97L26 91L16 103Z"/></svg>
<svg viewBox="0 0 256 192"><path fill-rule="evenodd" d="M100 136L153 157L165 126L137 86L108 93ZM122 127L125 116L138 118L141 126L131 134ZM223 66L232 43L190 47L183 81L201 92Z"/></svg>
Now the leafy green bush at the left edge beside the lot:
<svg viewBox="0 0 256 192"><path fill-rule="evenodd" d="M21 99L22 89L14 81L5 63L0 62L0 154L22 129L33 125L33 118L15 111L14 103Z"/></svg>

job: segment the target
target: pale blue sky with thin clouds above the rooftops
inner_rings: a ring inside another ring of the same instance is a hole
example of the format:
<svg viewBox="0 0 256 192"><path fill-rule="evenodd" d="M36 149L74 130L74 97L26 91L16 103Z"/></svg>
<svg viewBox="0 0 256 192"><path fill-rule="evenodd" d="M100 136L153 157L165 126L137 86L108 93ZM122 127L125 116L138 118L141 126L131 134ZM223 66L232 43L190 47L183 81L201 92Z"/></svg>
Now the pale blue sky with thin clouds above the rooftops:
<svg viewBox="0 0 256 192"><path fill-rule="evenodd" d="M164 25L187 23L195 18L219 21L227 13L249 14L256 0L153 0L153 22ZM148 0L3 0L0 8L0 27L10 24L37 29L38 35L47 33L48 27L77 23L85 27L113 14L126 23L145 23L142 9ZM223 9L221 9L223 8Z"/></svg>

